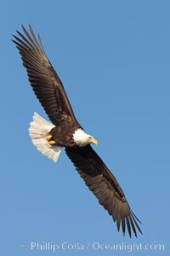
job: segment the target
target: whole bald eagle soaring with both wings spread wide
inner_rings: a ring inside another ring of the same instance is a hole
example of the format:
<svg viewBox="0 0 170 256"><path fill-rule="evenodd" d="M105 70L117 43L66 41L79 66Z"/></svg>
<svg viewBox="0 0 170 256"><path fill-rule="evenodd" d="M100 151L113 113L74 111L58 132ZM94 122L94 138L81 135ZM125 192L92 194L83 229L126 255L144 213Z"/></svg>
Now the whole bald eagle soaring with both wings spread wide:
<svg viewBox="0 0 170 256"><path fill-rule="evenodd" d="M91 147L90 143L97 145L98 141L78 123L65 88L45 54L39 34L36 38L31 26L30 33L24 26L22 29L24 34L16 31L18 36L13 35L13 42L20 51L31 87L52 122L34 113L29 128L32 143L54 162L65 148L88 189L116 222L117 230L122 227L124 236L127 229L130 237L133 230L137 237L136 230L142 234L140 221L129 207L116 177Z"/></svg>

